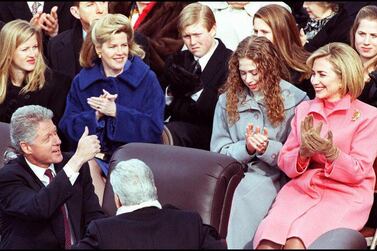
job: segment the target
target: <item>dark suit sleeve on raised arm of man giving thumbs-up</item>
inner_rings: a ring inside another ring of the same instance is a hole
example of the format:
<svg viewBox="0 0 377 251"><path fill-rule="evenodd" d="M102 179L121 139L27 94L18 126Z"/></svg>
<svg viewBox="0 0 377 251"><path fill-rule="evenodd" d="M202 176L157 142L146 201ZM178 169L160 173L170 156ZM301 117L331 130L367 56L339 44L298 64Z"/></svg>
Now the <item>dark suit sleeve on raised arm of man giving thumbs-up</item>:
<svg viewBox="0 0 377 251"><path fill-rule="evenodd" d="M11 170L11 169L15 170ZM49 219L74 192L64 171L40 190L28 186L27 178L19 165L4 167L0 172L0 208L8 215L25 221Z"/></svg>

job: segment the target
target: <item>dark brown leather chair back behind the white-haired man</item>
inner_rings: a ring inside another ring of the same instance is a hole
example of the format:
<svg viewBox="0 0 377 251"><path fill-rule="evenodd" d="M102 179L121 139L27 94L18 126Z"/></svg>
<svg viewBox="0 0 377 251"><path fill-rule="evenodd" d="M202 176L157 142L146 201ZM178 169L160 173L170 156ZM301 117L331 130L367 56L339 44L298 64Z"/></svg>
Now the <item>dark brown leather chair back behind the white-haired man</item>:
<svg viewBox="0 0 377 251"><path fill-rule="evenodd" d="M130 143L120 147L110 161L110 173L122 160L144 161L154 174L162 205L197 211L205 224L215 227L225 239L233 193L243 178L237 160L205 150L150 143ZM107 179L102 207L115 215L114 193Z"/></svg>

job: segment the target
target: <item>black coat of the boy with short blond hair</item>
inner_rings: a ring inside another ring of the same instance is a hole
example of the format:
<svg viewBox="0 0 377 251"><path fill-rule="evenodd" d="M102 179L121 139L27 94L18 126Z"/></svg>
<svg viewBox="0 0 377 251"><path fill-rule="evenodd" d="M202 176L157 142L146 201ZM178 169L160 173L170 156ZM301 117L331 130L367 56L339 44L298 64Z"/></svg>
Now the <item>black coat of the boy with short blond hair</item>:
<svg viewBox="0 0 377 251"><path fill-rule="evenodd" d="M217 40L219 44L201 72L199 81L190 79L184 81L185 85L192 85L190 82L198 82L196 85L202 86L203 91L197 101L191 99L191 95L198 91L197 88L194 88L194 92L192 92L192 88L182 91L182 89L186 89L182 85L184 82L172 81L171 78L172 75L177 75L178 78L181 75L180 71L174 70L172 67L175 64L179 64L179 67L184 68L187 72L192 72L195 60L191 52L189 50L179 51L166 61L165 71L161 76L161 87L165 90L174 82L176 83L175 89L178 90L178 92L172 93L173 101L165 108L165 117L170 116L166 126L172 134L174 145L209 150L213 115L219 97L218 90L226 81L228 61L232 54L232 51L226 48L220 39ZM171 89L174 90L172 87Z"/></svg>

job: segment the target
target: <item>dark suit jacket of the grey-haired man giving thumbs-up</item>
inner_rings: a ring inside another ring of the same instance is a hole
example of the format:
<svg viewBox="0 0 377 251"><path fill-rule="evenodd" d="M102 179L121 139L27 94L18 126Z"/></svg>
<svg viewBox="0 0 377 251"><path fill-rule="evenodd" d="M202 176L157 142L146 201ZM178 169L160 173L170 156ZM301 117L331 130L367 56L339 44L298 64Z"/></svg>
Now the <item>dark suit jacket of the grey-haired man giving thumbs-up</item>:
<svg viewBox="0 0 377 251"><path fill-rule="evenodd" d="M83 237L91 220L105 217L88 165L80 169L74 185L62 170L69 157L64 155L54 165L57 174L47 187L22 156L0 169L0 248L64 249L64 203L76 240Z"/></svg>

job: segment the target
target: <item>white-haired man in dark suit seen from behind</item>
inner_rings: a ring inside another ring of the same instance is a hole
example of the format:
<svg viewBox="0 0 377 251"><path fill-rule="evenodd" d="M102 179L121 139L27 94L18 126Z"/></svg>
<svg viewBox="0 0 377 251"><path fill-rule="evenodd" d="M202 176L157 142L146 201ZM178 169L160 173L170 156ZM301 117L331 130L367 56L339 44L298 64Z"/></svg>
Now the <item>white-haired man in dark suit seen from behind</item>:
<svg viewBox="0 0 377 251"><path fill-rule="evenodd" d="M116 216L92 221L80 249L226 248L196 212L161 207L151 169L141 160L119 162L110 173Z"/></svg>

